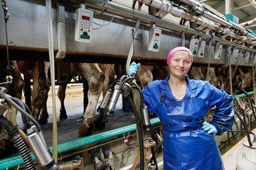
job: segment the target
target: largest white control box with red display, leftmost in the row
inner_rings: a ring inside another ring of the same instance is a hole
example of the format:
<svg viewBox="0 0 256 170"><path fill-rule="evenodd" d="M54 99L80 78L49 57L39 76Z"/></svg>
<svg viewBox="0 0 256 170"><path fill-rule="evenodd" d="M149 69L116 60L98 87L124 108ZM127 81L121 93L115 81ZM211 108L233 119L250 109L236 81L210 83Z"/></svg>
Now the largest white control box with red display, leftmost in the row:
<svg viewBox="0 0 256 170"><path fill-rule="evenodd" d="M75 10L75 41L92 42L93 12L84 8Z"/></svg>

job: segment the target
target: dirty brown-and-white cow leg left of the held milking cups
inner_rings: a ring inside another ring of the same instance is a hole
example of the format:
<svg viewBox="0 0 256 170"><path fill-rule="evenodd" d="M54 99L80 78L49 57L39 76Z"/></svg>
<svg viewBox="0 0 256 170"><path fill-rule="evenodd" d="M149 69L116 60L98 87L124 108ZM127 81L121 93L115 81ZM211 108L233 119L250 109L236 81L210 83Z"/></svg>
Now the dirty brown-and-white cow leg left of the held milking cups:
<svg viewBox="0 0 256 170"><path fill-rule="evenodd" d="M97 64L77 63L76 70L80 77L87 79L89 84L89 102L78 131L78 136L85 136L90 135L93 128L95 109L100 98L105 75Z"/></svg>

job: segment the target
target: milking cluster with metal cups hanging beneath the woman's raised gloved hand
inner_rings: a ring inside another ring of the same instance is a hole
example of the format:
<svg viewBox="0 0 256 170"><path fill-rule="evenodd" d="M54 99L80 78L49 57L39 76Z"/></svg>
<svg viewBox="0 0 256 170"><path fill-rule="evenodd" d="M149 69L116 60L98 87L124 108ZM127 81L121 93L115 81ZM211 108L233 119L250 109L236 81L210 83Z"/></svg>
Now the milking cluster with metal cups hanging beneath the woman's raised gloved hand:
<svg viewBox="0 0 256 170"><path fill-rule="evenodd" d="M147 106L144 103L144 98L141 89L133 81L134 77L127 77L126 75L122 76L119 80L115 81L113 84L110 85L107 93L103 97L100 106L97 108L97 111L105 112L107 116L114 116L114 109L117 104L119 95L122 94L129 105L132 107L132 111L136 118L137 123L137 131L138 131L138 139L139 139L139 154L140 154L140 169L144 169L144 138L143 138L143 130L144 131L151 131L151 123L149 121L149 113L147 110ZM117 88L114 89L112 92L112 88L117 85ZM135 106L134 101L131 97L132 89L136 89L139 92L139 99L140 99L140 108L139 111L137 106ZM111 96L112 95L112 96ZM143 130L142 130L143 127ZM149 145L148 145L149 146ZM149 148L149 147L146 147ZM156 159L154 159L154 163L156 164ZM148 164L149 162L147 162Z"/></svg>

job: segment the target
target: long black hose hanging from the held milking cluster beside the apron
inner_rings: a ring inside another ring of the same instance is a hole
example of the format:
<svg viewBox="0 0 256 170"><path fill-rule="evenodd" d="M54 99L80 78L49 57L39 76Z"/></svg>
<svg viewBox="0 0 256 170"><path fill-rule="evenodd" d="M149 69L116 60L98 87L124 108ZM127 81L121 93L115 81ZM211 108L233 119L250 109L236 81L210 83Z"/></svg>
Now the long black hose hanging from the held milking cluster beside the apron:
<svg viewBox="0 0 256 170"><path fill-rule="evenodd" d="M139 132L139 157L140 157L140 170L144 170L144 140L142 137L142 121L139 120L139 113L137 112L137 109L132 101L132 98L127 96L127 101L132 106L132 110L134 111L134 116L137 123L137 128Z"/></svg>

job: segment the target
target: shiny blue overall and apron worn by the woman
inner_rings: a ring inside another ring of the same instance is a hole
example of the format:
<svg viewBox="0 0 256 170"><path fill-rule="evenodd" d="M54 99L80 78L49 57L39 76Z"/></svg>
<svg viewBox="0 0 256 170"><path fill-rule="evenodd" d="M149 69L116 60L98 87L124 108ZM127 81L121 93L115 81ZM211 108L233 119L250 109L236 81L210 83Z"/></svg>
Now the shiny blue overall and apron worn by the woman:
<svg viewBox="0 0 256 170"><path fill-rule="evenodd" d="M149 113L156 113L163 125L164 169L224 169L214 135L201 127L207 111L217 106L210 124L217 135L229 130L234 121L233 97L208 81L186 77L186 94L176 101L168 79L153 81L143 90Z"/></svg>

